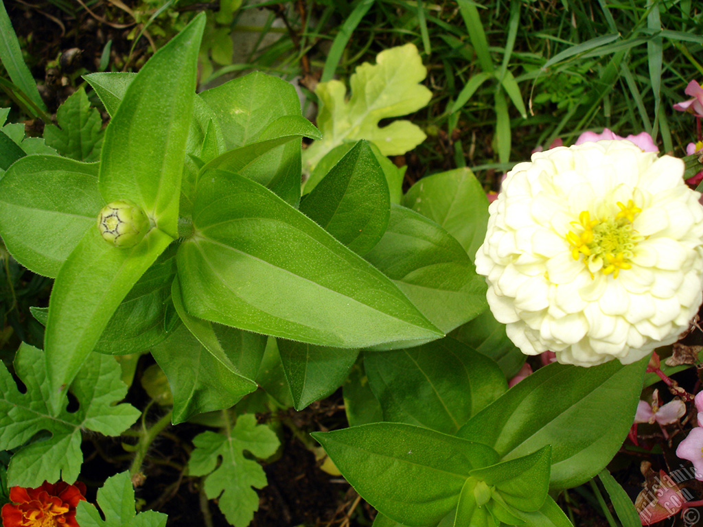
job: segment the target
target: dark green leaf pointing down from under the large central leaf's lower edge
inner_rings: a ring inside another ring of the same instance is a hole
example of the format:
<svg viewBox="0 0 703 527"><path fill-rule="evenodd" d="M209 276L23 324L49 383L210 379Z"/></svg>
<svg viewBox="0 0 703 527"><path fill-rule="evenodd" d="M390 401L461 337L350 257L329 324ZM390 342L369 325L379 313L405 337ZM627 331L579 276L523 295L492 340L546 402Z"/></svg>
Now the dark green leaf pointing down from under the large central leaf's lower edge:
<svg viewBox="0 0 703 527"><path fill-rule="evenodd" d="M278 340L278 351L298 411L342 386L359 355L358 349L325 348L284 339Z"/></svg>

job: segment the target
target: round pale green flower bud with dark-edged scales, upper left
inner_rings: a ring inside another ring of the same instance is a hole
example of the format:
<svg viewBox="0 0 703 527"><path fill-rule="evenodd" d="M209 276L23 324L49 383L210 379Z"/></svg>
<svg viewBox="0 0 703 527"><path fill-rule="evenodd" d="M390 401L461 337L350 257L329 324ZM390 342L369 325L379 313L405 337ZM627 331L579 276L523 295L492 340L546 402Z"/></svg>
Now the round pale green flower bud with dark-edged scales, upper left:
<svg viewBox="0 0 703 527"><path fill-rule="evenodd" d="M141 207L127 200L110 202L98 214L98 230L103 239L121 249L141 242L150 222Z"/></svg>

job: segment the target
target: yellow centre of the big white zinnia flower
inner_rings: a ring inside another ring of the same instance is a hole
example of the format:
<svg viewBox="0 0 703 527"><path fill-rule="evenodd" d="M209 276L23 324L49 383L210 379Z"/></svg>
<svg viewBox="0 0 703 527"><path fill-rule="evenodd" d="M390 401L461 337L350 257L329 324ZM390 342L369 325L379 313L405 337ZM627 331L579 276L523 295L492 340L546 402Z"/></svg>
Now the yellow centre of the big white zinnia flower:
<svg viewBox="0 0 703 527"><path fill-rule="evenodd" d="M612 273L617 278L621 269L632 268L632 249L640 236L632 228L635 216L642 212L633 200L627 204L617 202L620 211L615 216L602 220L592 220L587 210L579 214L579 221L572 221L574 230L566 235L574 260L583 254L583 263L591 272L600 271L604 275ZM591 274L593 276L593 273Z"/></svg>

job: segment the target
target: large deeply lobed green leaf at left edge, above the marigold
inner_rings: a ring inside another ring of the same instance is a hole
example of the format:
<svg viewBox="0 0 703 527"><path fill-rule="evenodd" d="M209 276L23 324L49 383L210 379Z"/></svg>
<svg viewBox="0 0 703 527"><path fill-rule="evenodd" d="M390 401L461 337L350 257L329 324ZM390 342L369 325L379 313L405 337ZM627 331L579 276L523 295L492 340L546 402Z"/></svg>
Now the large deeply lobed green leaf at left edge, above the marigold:
<svg viewBox="0 0 703 527"><path fill-rule="evenodd" d="M10 373L0 367L0 450L18 449L8 469L11 486L38 487L45 479L75 481L83 460L81 430L117 436L140 415L131 405L115 405L127 394L127 386L120 380L120 365L114 358L96 353L86 360L71 385L78 410L68 412L63 398L60 411L51 412L50 379L43 354L21 344L15 356L15 373L26 393L20 393ZM51 438L22 447L40 431L48 431Z"/></svg>

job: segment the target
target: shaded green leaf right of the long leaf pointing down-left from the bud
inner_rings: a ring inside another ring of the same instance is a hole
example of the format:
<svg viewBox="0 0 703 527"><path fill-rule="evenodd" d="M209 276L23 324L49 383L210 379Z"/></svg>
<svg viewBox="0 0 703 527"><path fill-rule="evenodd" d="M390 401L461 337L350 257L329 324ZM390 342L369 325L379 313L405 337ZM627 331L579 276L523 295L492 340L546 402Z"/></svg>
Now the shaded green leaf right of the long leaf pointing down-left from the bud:
<svg viewBox="0 0 703 527"><path fill-rule="evenodd" d="M103 330L96 351L138 353L167 337L172 308L171 285L176 276L176 248L170 245L131 288Z"/></svg>

